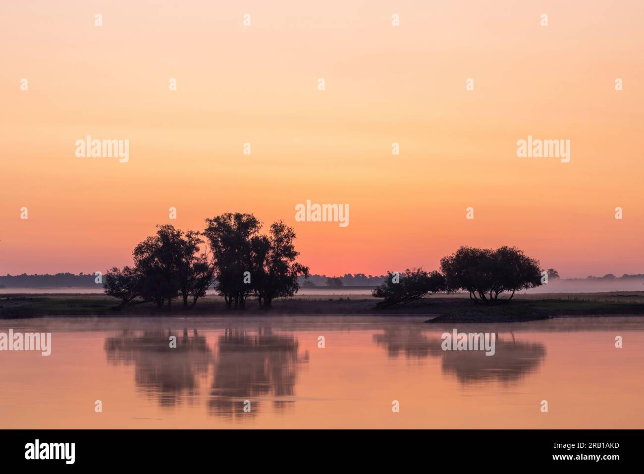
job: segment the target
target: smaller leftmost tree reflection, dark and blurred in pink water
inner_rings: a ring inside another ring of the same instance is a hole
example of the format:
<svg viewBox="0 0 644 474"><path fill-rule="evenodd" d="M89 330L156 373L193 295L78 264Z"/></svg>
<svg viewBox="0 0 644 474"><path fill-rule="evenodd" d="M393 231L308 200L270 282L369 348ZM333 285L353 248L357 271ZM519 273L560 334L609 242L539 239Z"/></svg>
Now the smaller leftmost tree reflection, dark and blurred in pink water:
<svg viewBox="0 0 644 474"><path fill-rule="evenodd" d="M176 336L176 348L170 347ZM135 366L138 390L158 397L161 406L175 406L197 394L198 377L206 375L213 355L205 337L173 331L124 331L105 341L108 362Z"/></svg>

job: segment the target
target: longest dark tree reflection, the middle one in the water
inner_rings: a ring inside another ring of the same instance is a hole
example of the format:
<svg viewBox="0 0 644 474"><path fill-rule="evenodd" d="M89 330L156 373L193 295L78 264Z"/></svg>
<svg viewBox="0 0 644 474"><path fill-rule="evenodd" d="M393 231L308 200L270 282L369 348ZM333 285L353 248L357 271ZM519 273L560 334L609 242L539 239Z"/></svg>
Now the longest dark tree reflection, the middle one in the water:
<svg viewBox="0 0 644 474"><path fill-rule="evenodd" d="M209 408L223 417L255 415L258 398L294 395L298 364L308 361L308 351L299 357L299 343L290 334L273 334L270 328L251 333L243 328L227 328L218 341ZM251 412L243 412L244 401L251 401ZM288 400L272 402L276 412L286 410Z"/></svg>

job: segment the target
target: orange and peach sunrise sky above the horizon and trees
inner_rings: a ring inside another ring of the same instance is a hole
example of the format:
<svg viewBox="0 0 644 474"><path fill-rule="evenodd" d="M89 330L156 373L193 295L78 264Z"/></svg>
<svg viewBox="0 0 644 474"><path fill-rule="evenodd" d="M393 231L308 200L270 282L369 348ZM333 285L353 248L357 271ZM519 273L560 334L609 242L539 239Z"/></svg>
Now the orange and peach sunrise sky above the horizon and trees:
<svg viewBox="0 0 644 474"><path fill-rule="evenodd" d="M0 274L127 265L157 224L236 211L292 225L319 274L436 269L460 245L515 245L563 278L644 272L642 17L641 1L2 3ZM88 135L129 140L128 162L76 156ZM529 135L570 140L570 161L518 157ZM296 221L307 200L348 205L349 224Z"/></svg>

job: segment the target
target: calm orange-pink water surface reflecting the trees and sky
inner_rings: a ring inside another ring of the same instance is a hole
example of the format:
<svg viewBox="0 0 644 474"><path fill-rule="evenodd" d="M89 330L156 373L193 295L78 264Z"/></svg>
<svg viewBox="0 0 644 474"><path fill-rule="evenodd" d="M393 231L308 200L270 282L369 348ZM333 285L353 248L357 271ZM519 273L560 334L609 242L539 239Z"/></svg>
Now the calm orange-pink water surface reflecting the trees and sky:
<svg viewBox="0 0 644 474"><path fill-rule="evenodd" d="M424 319L1 320L52 354L0 352L0 428L644 428L644 318L456 326L493 356Z"/></svg>

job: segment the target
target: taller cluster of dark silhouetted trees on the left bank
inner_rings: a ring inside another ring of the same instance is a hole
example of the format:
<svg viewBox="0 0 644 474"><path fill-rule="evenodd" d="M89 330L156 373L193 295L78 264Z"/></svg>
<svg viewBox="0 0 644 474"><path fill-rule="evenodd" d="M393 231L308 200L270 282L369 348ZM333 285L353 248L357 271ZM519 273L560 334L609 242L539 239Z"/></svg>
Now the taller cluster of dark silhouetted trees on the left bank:
<svg viewBox="0 0 644 474"><path fill-rule="evenodd" d="M252 214L226 213L205 222L203 232L157 226L135 247L132 267L109 270L106 294L121 299L121 306L170 306L182 298L187 308L214 284L228 308L245 307L249 296L270 308L274 298L293 296L298 277L308 275L308 267L296 261L295 232L284 222L273 223L268 235Z"/></svg>

